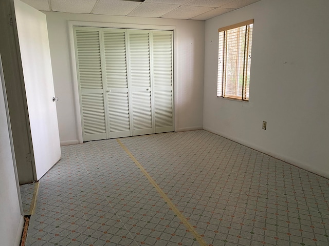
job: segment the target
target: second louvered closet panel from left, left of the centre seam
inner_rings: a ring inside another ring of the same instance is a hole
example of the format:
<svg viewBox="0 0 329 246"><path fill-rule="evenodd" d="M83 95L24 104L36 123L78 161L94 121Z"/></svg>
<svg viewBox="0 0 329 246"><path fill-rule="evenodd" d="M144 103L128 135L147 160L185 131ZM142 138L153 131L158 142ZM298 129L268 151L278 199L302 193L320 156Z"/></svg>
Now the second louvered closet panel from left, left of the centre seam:
<svg viewBox="0 0 329 246"><path fill-rule="evenodd" d="M126 66L126 30L102 29L109 138L132 136Z"/></svg>

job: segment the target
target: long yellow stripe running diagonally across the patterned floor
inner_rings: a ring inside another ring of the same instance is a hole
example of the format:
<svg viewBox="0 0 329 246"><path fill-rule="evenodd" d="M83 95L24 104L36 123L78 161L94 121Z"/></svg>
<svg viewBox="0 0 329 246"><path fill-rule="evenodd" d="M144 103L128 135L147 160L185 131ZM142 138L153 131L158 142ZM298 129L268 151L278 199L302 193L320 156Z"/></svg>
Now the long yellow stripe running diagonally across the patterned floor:
<svg viewBox="0 0 329 246"><path fill-rule="evenodd" d="M175 207L174 203L169 199L169 197L166 195L165 192L161 190L161 188L157 185L157 183L153 180L153 178L150 176L150 174L143 168L143 166L138 162L138 160L133 156L132 153L122 144L122 142L117 139L119 145L124 149L124 151L130 156L130 158L136 163L137 167L142 171L142 173L150 180L154 188L159 192L159 194L162 196L163 200L167 202L169 207L174 211L174 213L177 215L177 217L181 220L181 222L185 225L185 227L194 235L195 239L199 242L200 245L208 245L202 237L195 231L194 227L191 226L191 224L188 222L188 220L185 218L182 213Z"/></svg>

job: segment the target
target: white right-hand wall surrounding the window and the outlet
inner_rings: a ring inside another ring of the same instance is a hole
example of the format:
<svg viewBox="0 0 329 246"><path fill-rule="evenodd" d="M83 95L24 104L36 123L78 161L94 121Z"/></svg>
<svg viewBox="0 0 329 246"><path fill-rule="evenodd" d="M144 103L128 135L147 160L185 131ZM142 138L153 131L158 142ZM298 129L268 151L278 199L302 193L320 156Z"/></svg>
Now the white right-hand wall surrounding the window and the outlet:
<svg viewBox="0 0 329 246"><path fill-rule="evenodd" d="M262 0L207 20L204 129L329 177L328 12L327 0ZM216 98L217 29L251 18L250 101Z"/></svg>

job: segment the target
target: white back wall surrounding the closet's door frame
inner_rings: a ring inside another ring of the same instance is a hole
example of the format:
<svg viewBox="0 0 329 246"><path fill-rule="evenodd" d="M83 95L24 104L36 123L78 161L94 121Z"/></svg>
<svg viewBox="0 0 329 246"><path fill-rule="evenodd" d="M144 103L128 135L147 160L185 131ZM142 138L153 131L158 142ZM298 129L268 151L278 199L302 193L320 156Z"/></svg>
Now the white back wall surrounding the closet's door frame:
<svg viewBox="0 0 329 246"><path fill-rule="evenodd" d="M75 144L79 128L75 117L75 88L72 80L68 20L175 26L177 60L175 68L175 130L201 129L203 125L204 22L160 18L137 18L88 14L44 12L47 16L51 63L57 104L61 144ZM128 25L129 26L129 25Z"/></svg>

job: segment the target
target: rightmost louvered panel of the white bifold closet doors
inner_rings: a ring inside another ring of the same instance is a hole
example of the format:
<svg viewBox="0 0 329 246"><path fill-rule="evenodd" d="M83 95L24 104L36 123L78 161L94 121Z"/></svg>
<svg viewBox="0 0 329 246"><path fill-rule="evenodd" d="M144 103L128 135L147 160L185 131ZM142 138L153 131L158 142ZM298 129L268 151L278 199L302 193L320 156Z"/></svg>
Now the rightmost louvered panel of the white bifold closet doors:
<svg viewBox="0 0 329 246"><path fill-rule="evenodd" d="M172 31L151 31L155 133L174 131L172 38Z"/></svg>

